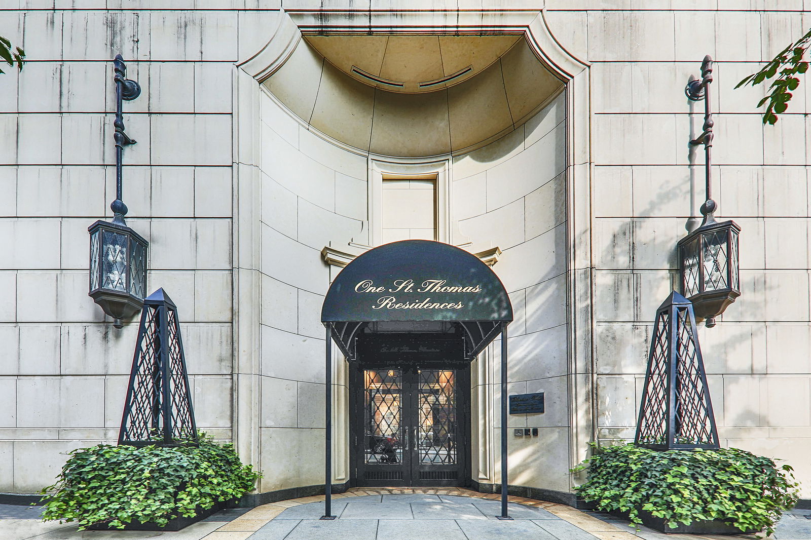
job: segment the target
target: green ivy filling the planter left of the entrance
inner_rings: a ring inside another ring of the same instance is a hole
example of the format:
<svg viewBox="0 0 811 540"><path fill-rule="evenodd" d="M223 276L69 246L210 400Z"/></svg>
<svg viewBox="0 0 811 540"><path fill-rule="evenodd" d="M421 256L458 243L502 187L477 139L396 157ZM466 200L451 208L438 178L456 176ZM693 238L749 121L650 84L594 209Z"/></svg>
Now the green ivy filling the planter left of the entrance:
<svg viewBox="0 0 811 540"><path fill-rule="evenodd" d="M100 444L69 452L45 495L43 521L77 521L79 529L106 524L123 529L134 520L164 526L197 507L242 496L260 474L242 465L230 444L201 437L178 447Z"/></svg>

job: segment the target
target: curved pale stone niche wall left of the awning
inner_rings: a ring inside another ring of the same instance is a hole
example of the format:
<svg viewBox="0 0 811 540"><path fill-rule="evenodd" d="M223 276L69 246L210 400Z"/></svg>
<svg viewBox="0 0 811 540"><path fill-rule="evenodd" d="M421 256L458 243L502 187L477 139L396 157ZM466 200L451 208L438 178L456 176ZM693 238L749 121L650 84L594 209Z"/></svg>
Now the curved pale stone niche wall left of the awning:
<svg viewBox="0 0 811 540"><path fill-rule="evenodd" d="M367 157L307 130L260 97L260 491L324 483L324 326L332 242L368 242ZM346 366L333 355L335 482L348 480ZM343 404L343 405L341 405ZM246 414L251 414L246 411Z"/></svg>

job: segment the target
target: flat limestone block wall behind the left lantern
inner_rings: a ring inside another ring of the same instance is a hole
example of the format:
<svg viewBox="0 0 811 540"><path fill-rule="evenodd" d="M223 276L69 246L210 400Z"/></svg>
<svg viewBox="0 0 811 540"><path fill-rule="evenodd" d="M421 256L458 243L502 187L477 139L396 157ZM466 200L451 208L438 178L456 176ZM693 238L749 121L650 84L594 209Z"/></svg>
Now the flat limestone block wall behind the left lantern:
<svg viewBox="0 0 811 540"><path fill-rule="evenodd" d="M115 330L87 295L87 227L115 195L118 53L143 88L124 105L138 141L125 150L127 222L150 242L148 289L178 305L198 426L231 437L240 15L148 9L160 3L0 7L0 34L28 54L22 73L0 75L0 491L39 490L60 452L118 437L138 321Z"/></svg>

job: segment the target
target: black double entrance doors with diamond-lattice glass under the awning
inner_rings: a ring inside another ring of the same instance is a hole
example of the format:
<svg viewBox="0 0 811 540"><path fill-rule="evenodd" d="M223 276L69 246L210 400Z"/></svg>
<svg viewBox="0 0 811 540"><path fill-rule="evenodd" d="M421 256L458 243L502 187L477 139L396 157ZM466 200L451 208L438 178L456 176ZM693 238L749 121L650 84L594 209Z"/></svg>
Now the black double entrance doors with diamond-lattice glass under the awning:
<svg viewBox="0 0 811 540"><path fill-rule="evenodd" d="M351 388L355 485L463 485L469 366L359 364Z"/></svg>

